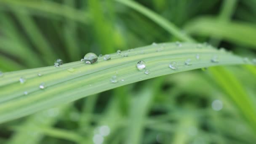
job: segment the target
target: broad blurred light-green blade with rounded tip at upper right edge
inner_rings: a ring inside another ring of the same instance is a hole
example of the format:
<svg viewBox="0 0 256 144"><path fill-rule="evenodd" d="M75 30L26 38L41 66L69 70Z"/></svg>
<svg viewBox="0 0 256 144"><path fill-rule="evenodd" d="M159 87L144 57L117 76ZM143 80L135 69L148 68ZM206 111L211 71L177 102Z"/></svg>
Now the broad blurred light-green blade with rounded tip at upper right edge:
<svg viewBox="0 0 256 144"><path fill-rule="evenodd" d="M256 26L248 22L222 22L216 18L202 17L189 22L184 29L189 34L222 37L238 45L256 48Z"/></svg>

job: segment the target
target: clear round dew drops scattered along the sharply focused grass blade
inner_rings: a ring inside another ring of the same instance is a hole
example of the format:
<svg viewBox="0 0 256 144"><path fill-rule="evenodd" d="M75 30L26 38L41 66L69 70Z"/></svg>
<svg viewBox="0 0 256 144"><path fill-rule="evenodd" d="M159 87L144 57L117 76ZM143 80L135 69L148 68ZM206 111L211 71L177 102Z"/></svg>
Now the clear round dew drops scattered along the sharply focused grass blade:
<svg viewBox="0 0 256 144"><path fill-rule="evenodd" d="M197 44L197 48L203 48L203 45L205 44ZM207 43L206 43L207 45ZM152 46L158 46L157 43L152 43ZM179 48L179 47L182 47L182 43L180 42L176 42L176 46ZM133 49L132 49L133 50ZM128 52L131 51L131 50L128 50ZM158 51L163 51L163 46L160 46L160 48L157 49L157 52ZM220 51L225 51L223 48L220 49ZM141 51L141 54L144 54L144 51ZM128 56L128 53L122 53L120 50L117 50L117 55L121 55L122 57L126 57ZM99 55L99 57L101 57L102 55ZM104 55L103 57L104 61L109 61L111 60L111 56L109 54L106 54ZM195 55L195 59L196 60L200 60L200 54L196 54ZM81 59L81 61L85 62L85 64L94 64L98 61L98 56L95 54L95 53L87 53L85 54L84 58ZM184 61L184 65L185 66L190 66L192 65L192 60L191 59L186 59ZM243 61L245 61L246 63L249 62L250 60L248 58L244 58ZM219 56L217 55L214 55L212 58L211 58L211 62L212 63L218 63L219 62ZM256 59L253 59L252 62L254 64L256 64ZM63 61L61 59L56 59L54 61L54 67L60 67L61 65L63 64ZM178 66L179 64L176 62L176 61L171 61L169 63L169 68L172 69L172 70L177 70L178 69ZM136 64L136 68L139 70L139 71L144 71L144 74L145 75L149 75L150 74L150 70L147 69L147 64L145 61L138 61L137 64ZM204 70L205 68L203 68ZM69 68L67 69L69 72L74 72L75 69L73 68ZM116 72L116 74L118 74L118 72ZM0 71L0 77L3 77L3 72ZM41 77L42 74L37 74L38 77ZM141 78L140 78L141 79ZM118 82L118 79L117 79L117 76L116 75L113 75L110 79L111 83L117 83ZM123 79L121 79L121 81L124 81ZM19 82L20 84L24 84L26 82L26 79L24 77L20 77L19 79ZM44 89L45 88L45 83L41 83L39 85L39 88L40 89ZM28 92L25 91L24 92L24 95L27 95Z"/></svg>

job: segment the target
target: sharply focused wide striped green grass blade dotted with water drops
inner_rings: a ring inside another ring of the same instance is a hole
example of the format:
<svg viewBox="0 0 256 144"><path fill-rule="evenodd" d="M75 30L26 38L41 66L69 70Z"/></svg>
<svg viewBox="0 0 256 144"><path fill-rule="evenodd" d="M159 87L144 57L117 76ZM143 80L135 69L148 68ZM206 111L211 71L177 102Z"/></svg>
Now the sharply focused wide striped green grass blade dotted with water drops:
<svg viewBox="0 0 256 144"><path fill-rule="evenodd" d="M128 56L122 57L114 53L111 54L111 60L104 61L99 57L96 64L77 61L59 68L51 66L4 73L0 81L0 123L161 75L217 65L244 64L243 59L238 56L216 50L209 45L197 48L197 44L193 43L163 43L122 53L128 53ZM200 55L200 60L196 59L197 54ZM213 56L218 56L219 62L212 62ZM191 59L191 65L185 65L184 61L187 59ZM141 60L147 63L147 69L151 71L149 75L136 68L137 62ZM169 68L171 61L177 62L178 69ZM68 71L70 68L72 72ZM42 76L37 76L38 73ZM110 82L113 75L117 75L117 83ZM20 77L27 81L20 84ZM40 83L45 83L44 89L39 88ZM25 91L27 95L24 95Z"/></svg>

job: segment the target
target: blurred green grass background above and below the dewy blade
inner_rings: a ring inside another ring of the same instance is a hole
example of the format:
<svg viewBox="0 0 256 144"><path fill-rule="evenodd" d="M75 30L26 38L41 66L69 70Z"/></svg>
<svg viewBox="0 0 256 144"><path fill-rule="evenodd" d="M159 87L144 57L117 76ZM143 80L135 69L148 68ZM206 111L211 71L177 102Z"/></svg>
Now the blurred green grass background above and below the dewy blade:
<svg viewBox="0 0 256 144"><path fill-rule="evenodd" d="M256 57L256 0L136 2L198 42ZM0 0L2 72L177 40L116 0ZM220 70L233 81L209 70L182 72L3 123L0 144L255 144L256 67ZM239 103L244 96L255 109Z"/></svg>

